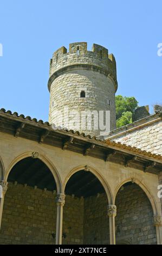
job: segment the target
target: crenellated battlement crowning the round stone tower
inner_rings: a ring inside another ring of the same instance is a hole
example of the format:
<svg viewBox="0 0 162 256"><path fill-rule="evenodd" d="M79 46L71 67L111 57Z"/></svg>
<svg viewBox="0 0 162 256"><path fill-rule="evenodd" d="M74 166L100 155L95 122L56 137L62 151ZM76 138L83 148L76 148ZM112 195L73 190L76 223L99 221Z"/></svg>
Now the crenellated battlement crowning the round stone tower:
<svg viewBox="0 0 162 256"><path fill-rule="evenodd" d="M67 52L67 48L62 46L50 59L50 78L55 77L62 69L75 68L75 65L103 72L113 79L117 88L115 57L113 54L108 54L107 48L93 44L92 51L88 51L87 42L73 42L69 44L69 52Z"/></svg>

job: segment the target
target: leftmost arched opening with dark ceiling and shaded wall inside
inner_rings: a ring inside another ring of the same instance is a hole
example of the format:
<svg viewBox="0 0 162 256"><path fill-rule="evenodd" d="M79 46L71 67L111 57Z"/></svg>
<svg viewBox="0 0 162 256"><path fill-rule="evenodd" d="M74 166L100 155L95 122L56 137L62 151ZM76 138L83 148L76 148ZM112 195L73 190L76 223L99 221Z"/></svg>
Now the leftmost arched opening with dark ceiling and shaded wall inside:
<svg viewBox="0 0 162 256"><path fill-rule="evenodd" d="M56 182L40 159L26 157L12 167L5 193L1 244L55 244Z"/></svg>

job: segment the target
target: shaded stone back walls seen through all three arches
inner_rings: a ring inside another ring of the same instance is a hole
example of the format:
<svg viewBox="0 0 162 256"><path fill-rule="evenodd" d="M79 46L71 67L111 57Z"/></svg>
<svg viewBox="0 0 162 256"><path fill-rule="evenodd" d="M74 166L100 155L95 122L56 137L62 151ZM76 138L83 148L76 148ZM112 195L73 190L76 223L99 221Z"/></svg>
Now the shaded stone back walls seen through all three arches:
<svg viewBox="0 0 162 256"><path fill-rule="evenodd" d="M0 244L55 244L56 194L9 183L5 194ZM63 244L108 244L109 219L105 194L86 199L66 196L63 209ZM135 184L116 197L116 240L156 243L152 208Z"/></svg>

